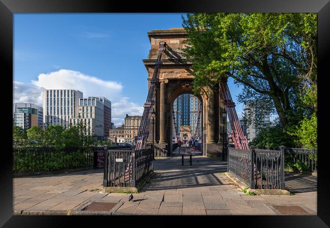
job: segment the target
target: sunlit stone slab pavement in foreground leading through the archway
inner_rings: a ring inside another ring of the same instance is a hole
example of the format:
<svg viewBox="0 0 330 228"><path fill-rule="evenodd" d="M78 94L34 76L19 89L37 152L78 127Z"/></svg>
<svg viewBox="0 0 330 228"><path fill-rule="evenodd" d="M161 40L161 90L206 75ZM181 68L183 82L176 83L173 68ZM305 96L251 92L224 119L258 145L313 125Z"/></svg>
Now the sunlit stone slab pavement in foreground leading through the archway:
<svg viewBox="0 0 330 228"><path fill-rule="evenodd" d="M155 178L141 193L105 194L102 170L14 178L14 213L74 211L88 202L119 203L113 215L276 215L273 205L298 205L316 214L316 191L291 196L248 196L224 175L226 162L194 156L159 158ZM32 213L33 214L33 213Z"/></svg>

